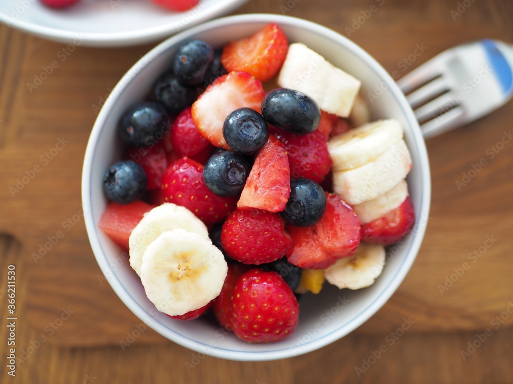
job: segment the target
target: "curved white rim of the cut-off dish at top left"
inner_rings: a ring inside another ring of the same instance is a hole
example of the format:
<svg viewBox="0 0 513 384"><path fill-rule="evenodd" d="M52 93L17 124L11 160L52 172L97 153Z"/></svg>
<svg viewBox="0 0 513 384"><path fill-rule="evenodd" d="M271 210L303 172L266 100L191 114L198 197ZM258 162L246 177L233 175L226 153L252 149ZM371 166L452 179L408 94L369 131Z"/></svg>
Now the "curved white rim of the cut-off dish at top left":
<svg viewBox="0 0 513 384"><path fill-rule="evenodd" d="M58 28L47 27L33 22L21 19L12 19L7 14L0 12L0 22L9 27L16 28L35 36L43 37L57 42L75 44L76 39L80 39L81 46L85 47L126 47L145 44L147 42L160 40L176 33L180 33L193 26L201 24L206 20L213 19L220 15L229 13L233 9L240 7L248 0L223 0L221 7L211 6L206 10L202 10L191 17L189 23L182 26L179 21L172 23L164 23L162 25L139 29L131 32L80 32L66 31ZM194 8L184 12L176 12L177 15L187 14Z"/></svg>

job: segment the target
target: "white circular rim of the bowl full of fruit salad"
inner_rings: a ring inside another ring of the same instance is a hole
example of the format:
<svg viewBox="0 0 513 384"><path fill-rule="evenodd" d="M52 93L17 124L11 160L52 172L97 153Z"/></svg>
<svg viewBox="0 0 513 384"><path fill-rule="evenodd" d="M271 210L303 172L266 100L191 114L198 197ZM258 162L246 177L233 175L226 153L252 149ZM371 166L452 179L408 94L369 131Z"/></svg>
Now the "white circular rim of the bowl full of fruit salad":
<svg viewBox="0 0 513 384"><path fill-rule="evenodd" d="M278 25L287 25L295 28L304 28L308 29L312 33L317 33L322 35L323 37L327 37L334 42L344 46L346 49L350 50L353 54L363 58L372 69L380 75L384 79L391 78L388 72L379 64L377 60L375 60L372 56L370 56L366 51L364 51L361 47L359 47L356 43L349 40L347 37L339 34L336 31L333 31L327 27L321 26L317 23L310 22L309 20L286 16L286 15L277 15L277 14L242 14L235 16L227 16L215 20L211 20L208 23L193 27L184 32L181 32L177 35L174 35L167 40L163 41L161 44L157 45L151 51L149 51L146 55L144 55L140 60L138 60L133 66L132 69L144 67L146 63L153 60L156 56L162 54L166 51L170 46L175 45L177 42L189 38L193 35L206 32L212 29L216 29L225 25L233 25L233 24L241 24L245 22L251 23L270 23L274 22ZM127 73L130 73L129 70ZM124 75L124 77L126 74ZM89 141L86 148L86 153L84 157L84 165L82 171L82 202L84 207L84 220L86 223L86 229L89 237L89 241L91 244L91 248L95 255L96 261L102 272L105 275L106 280L111 285L112 289L116 292L116 294L121 298L123 303L143 322L150 325L156 332L162 334L166 338L172 340L174 343L180 344L188 349L191 349L196 352L205 353L214 357L220 357L230 360L241 360L241 361L266 361L266 360L274 360L281 358L288 358L293 356L298 356L304 353L308 353L314 350L317 350L323 346L326 346L339 338L342 338L346 334L352 332L354 329L358 328L364 322L366 322L374 313L376 313L390 298L390 296L397 290L399 285L404 280L408 270L410 269L413 261L417 257L417 253L421 246L422 240L424 238L424 232L427 225L427 220L419 221L418 226L415 227L415 234L413 235L413 239L411 241L409 249L406 251L406 257L397 270L396 274L391 278L390 283L385 287L385 289L379 294L379 296L370 303L363 311L357 314L354 318L352 318L348 323L340 326L337 330L324 335L320 338L312 340L311 342L301 346L300 351L294 351L293 347L288 347L282 350L274 350L274 351L234 351L223 349L219 347L210 347L207 344L196 342L195 340L191 340L181 334L177 334L176 332L167 328L163 323L160 323L155 318L148 315L148 313L135 302L134 298L132 298L121 282L117 279L115 273L113 273L112 267L107 262L106 256L103 252L103 248L100 244L97 227L94 223L92 211L91 211L91 172L92 172L92 162L94 158L94 150L96 147L96 143L98 141L98 137L101 133L101 127L105 123L105 120L108 115L108 111L111 109L112 104L116 99L116 95L119 94L125 87L128 86L130 81L123 81L123 78L116 84L116 87L112 90L111 94L105 101L102 110L98 114L96 121L94 123L93 129L91 131L91 135L89 137ZM413 143L416 145L416 151L421 159L421 164L418 166L421 167L421 204L419 207L419 215L421 218L428 218L429 208L430 208L430 199L431 199L431 181L430 181L430 169L429 169L429 161L427 156L427 150L425 146L424 139L421 134L421 130L413 111L410 108L405 96L400 91L397 83L392 81L389 83L389 89L394 98L396 98L398 104L401 106L403 110L405 118L408 120L408 123L411 125L412 130L412 138ZM148 319L148 322L146 321ZM206 351L205 346L208 348L208 352Z"/></svg>

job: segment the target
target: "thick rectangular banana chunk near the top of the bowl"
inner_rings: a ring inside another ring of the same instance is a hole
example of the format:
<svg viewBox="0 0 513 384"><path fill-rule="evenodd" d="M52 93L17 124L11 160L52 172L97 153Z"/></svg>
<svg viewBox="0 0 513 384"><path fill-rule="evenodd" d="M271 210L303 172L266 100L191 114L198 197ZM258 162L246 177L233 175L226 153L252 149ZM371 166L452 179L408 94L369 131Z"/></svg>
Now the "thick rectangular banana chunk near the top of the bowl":
<svg viewBox="0 0 513 384"><path fill-rule="evenodd" d="M323 111L348 117L361 82L310 48L295 42L278 75L280 87L310 96Z"/></svg>

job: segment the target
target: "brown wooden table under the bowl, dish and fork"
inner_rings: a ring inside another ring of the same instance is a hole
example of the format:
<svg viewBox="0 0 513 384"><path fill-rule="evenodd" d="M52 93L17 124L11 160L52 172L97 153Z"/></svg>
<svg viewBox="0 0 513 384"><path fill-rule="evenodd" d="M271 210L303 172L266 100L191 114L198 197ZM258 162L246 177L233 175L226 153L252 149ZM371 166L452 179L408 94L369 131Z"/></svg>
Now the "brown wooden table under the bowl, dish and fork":
<svg viewBox="0 0 513 384"><path fill-rule="evenodd" d="M376 11L365 17L371 6ZM248 12L324 24L400 74L470 39L513 42L509 0L253 0L236 11ZM364 22L355 22L362 15ZM425 52L407 59L417 44ZM0 26L0 296L7 306L5 276L14 264L16 347L26 360L16 382L513 382L511 102L427 142L433 188L424 243L398 291L352 334L271 362L194 360L150 330L123 350L120 340L140 321L101 279L82 221L80 176L97 107L152 46L76 47L34 88L29 84L66 45ZM471 173L481 159L486 165ZM465 175L474 176L458 187ZM391 344L404 317L415 324ZM7 322L0 321L5 356ZM1 382L9 382L6 369Z"/></svg>

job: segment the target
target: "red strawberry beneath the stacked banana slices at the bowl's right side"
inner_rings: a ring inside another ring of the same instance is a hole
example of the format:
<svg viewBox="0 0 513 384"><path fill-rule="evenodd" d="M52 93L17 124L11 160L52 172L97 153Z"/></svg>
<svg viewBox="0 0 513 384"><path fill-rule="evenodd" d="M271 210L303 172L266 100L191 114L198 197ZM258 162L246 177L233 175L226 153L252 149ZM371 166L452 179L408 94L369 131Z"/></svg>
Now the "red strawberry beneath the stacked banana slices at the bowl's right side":
<svg viewBox="0 0 513 384"><path fill-rule="evenodd" d="M409 197L396 209L362 225L362 241L384 246L397 243L415 223L415 210Z"/></svg>

